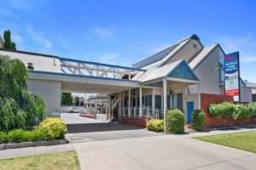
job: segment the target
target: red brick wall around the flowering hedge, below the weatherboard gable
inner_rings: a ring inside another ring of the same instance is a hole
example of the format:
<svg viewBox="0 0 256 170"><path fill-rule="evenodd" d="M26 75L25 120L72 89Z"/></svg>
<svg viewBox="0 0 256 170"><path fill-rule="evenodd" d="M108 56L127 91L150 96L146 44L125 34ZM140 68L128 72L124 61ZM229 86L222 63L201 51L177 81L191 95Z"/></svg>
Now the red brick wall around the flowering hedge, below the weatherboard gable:
<svg viewBox="0 0 256 170"><path fill-rule="evenodd" d="M218 94L201 94L201 110L206 113L206 127L224 127L224 126L239 126L247 124L255 124L256 120L244 119L234 120L231 118L214 119L208 115L208 107L210 104L218 104L224 101L234 101L232 96L218 95Z"/></svg>

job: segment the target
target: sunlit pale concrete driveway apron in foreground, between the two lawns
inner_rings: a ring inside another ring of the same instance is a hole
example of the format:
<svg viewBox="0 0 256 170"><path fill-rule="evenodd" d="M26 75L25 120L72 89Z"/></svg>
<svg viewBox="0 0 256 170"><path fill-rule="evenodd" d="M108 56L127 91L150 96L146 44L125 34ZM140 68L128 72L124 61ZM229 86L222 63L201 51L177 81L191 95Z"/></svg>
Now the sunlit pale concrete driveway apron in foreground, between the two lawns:
<svg viewBox="0 0 256 170"><path fill-rule="evenodd" d="M73 144L81 169L255 169L256 155L179 135Z"/></svg>

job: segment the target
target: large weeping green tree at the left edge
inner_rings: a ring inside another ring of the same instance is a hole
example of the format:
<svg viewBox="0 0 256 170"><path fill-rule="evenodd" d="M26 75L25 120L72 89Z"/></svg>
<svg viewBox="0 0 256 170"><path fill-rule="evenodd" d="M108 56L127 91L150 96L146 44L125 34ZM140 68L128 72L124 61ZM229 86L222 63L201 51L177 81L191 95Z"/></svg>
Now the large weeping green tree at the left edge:
<svg viewBox="0 0 256 170"><path fill-rule="evenodd" d="M20 59L0 55L0 131L31 129L44 119L44 100L27 91L28 71Z"/></svg>

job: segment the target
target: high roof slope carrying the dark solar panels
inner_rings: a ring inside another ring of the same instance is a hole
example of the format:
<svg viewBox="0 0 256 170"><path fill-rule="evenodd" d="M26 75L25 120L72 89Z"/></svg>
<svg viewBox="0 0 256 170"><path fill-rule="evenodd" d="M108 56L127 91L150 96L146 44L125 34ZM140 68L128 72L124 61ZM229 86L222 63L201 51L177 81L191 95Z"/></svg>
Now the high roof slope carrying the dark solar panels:
<svg viewBox="0 0 256 170"><path fill-rule="evenodd" d="M167 54L170 54L175 48L177 48L179 45L181 45L181 42L185 42L186 40L189 40L189 39L195 39L197 41L200 41L199 37L197 37L194 34L192 36L184 38L183 40L181 40L179 42L172 44L171 46L168 46L167 48L160 50L159 52L157 52L155 54L151 54L148 57L139 60L137 63L135 63L132 66L135 68L142 68L146 65L150 65L150 64L153 64L154 62L160 61L161 59L164 59ZM185 44L182 44L182 45L184 46Z"/></svg>

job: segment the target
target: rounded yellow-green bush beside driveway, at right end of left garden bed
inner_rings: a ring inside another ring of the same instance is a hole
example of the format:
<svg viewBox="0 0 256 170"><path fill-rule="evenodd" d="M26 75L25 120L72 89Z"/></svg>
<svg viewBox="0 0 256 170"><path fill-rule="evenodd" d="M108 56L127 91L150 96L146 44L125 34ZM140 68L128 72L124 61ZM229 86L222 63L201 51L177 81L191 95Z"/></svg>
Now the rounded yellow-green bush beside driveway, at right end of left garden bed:
<svg viewBox="0 0 256 170"><path fill-rule="evenodd" d="M67 133L67 125L60 118L48 117L39 123L38 129L48 133L50 137L55 139L63 139Z"/></svg>

